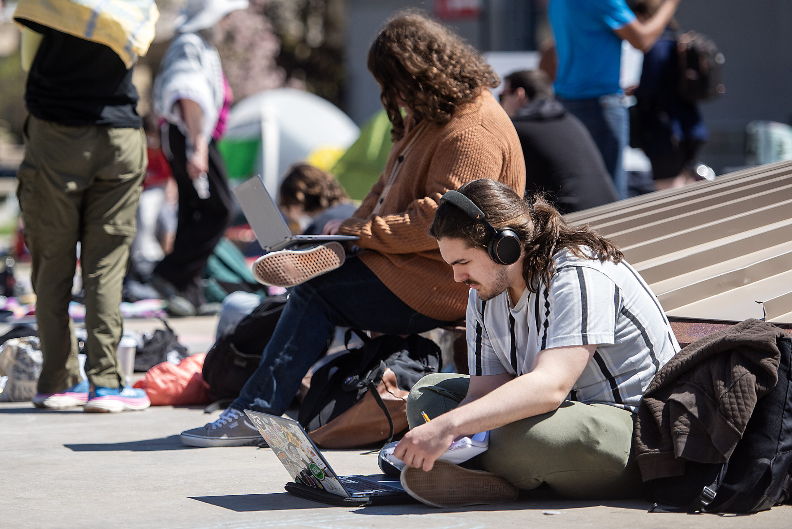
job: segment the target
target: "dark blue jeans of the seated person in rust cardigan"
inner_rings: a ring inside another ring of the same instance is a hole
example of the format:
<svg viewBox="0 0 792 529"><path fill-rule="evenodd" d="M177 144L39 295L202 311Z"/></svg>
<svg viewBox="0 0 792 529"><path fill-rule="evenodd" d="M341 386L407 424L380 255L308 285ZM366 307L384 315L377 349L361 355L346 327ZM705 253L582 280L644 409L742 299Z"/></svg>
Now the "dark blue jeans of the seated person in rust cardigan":
<svg viewBox="0 0 792 529"><path fill-rule="evenodd" d="M410 309L360 259L349 258L291 290L258 369L230 408L285 412L336 327L409 335L447 323Z"/></svg>

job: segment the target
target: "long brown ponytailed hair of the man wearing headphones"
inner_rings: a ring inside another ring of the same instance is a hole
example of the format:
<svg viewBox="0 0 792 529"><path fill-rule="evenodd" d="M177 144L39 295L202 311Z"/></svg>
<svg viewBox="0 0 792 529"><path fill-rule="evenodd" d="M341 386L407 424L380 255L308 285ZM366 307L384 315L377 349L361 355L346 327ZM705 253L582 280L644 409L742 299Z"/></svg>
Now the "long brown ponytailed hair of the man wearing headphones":
<svg viewBox="0 0 792 529"><path fill-rule="evenodd" d="M615 243L600 237L588 226L569 224L541 195L528 201L511 187L482 178L467 182L459 193L470 198L484 212L486 220L496 229L512 228L525 250L523 278L528 289L536 292L539 283L550 285L555 273L553 255L566 248L580 259L599 259L619 263L624 259ZM463 239L471 247L486 251L489 231L483 224L468 217L461 209L448 203L440 205L429 235L437 240ZM588 249L585 252L583 247Z"/></svg>

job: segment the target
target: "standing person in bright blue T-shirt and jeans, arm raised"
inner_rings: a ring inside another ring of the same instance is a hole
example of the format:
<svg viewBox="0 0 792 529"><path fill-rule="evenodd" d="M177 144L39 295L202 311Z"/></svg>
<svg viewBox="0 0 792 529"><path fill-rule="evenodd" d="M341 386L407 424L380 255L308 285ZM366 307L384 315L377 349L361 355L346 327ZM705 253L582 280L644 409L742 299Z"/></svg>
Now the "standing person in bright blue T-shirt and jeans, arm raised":
<svg viewBox="0 0 792 529"><path fill-rule="evenodd" d="M620 198L627 197L621 165L630 137L619 86L622 40L649 51L679 3L664 0L652 17L639 21L625 0L550 0L550 25L558 51L555 92L591 132Z"/></svg>

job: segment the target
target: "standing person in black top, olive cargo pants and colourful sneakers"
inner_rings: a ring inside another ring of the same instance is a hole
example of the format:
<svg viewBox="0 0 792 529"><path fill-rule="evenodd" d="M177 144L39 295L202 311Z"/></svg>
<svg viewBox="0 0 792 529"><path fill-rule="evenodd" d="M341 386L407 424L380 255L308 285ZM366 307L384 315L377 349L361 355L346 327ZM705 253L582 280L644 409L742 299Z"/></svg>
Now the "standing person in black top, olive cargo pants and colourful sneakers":
<svg viewBox="0 0 792 529"><path fill-rule="evenodd" d="M86 412L147 408L142 389L124 388L117 354L122 282L147 166L132 69L105 44L16 20L25 26L23 57L32 57L23 64L29 67L29 117L17 197L44 354L33 404L84 404ZM78 243L87 381L80 376L68 312Z"/></svg>

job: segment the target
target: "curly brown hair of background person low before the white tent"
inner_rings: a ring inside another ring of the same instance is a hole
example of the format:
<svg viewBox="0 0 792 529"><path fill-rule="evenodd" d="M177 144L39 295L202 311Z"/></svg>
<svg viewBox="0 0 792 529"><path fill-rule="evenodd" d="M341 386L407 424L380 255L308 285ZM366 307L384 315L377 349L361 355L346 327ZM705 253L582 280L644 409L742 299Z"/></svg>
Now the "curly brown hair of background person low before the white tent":
<svg viewBox="0 0 792 529"><path fill-rule="evenodd" d="M309 215L348 201L336 177L307 163L291 166L280 184L280 205L301 205Z"/></svg>

